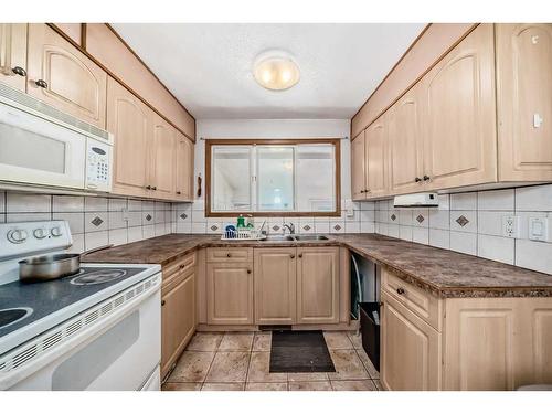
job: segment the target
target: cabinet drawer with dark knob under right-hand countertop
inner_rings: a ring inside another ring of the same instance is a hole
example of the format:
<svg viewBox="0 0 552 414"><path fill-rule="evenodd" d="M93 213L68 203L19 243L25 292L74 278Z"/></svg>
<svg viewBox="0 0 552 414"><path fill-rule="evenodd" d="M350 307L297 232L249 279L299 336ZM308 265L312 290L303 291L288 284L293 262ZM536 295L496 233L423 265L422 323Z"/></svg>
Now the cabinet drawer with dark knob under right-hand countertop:
<svg viewBox="0 0 552 414"><path fill-rule="evenodd" d="M440 331L440 299L429 293L402 280L386 269L382 269L382 290L399 300L408 310L420 316L425 322Z"/></svg>

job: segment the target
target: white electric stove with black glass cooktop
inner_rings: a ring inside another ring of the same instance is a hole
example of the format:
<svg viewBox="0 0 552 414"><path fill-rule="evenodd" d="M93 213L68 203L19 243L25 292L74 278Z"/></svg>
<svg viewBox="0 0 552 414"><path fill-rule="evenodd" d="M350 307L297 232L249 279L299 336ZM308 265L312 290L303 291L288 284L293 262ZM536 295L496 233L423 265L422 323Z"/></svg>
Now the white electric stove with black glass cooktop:
<svg viewBox="0 0 552 414"><path fill-rule="evenodd" d="M19 280L19 261L71 244L65 221L0 224L0 390L159 390L161 267Z"/></svg>

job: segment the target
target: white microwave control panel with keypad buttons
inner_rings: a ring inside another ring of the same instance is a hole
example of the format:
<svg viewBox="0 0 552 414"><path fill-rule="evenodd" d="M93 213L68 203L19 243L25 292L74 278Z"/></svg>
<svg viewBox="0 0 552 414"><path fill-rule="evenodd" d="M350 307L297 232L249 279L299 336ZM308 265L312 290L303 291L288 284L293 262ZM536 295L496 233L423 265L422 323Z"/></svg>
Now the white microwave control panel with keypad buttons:
<svg viewBox="0 0 552 414"><path fill-rule="evenodd" d="M112 190L112 146L109 144L87 139L86 189Z"/></svg>

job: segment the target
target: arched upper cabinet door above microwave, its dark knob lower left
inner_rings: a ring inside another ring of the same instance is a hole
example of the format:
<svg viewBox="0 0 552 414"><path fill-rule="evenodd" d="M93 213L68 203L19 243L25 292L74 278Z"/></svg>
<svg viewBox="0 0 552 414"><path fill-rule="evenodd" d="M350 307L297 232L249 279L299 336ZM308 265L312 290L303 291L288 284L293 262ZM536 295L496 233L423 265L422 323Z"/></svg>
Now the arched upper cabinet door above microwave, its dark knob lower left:
<svg viewBox="0 0 552 414"><path fill-rule="evenodd" d="M30 95L105 128L107 74L98 65L45 24L29 24L28 53Z"/></svg>

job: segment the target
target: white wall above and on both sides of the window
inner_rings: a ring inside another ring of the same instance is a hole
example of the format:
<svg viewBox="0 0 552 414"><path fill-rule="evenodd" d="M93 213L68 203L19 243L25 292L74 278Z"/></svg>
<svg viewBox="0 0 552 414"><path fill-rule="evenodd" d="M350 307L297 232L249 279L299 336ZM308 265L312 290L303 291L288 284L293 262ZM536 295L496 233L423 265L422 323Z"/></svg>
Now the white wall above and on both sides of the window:
<svg viewBox="0 0 552 414"><path fill-rule="evenodd" d="M205 141L201 138L343 138L341 140L341 199L351 198L349 119L203 119L195 124L195 178L203 178L205 193ZM194 180L197 185L197 180ZM197 189L195 189L197 190ZM194 191L195 193L195 191Z"/></svg>

